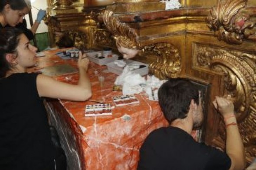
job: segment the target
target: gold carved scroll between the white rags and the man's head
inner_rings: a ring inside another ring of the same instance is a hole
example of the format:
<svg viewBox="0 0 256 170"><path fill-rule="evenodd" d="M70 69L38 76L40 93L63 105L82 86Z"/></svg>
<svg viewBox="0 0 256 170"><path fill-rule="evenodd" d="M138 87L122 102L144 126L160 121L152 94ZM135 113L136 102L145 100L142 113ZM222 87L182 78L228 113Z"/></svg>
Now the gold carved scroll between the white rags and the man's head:
<svg viewBox="0 0 256 170"><path fill-rule="evenodd" d="M181 72L181 56L177 48L169 43L158 43L144 46L144 55L157 56L157 61L149 66L149 70L160 79L174 78Z"/></svg>

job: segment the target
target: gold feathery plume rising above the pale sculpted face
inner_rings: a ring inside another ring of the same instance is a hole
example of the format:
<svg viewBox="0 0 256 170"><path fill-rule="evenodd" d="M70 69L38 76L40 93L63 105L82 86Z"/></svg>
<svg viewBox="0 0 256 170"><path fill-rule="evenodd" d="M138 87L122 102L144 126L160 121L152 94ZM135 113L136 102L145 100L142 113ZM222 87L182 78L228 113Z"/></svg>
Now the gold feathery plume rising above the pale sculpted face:
<svg viewBox="0 0 256 170"><path fill-rule="evenodd" d="M103 13L103 21L108 31L116 39L117 46L132 49L139 48L138 35L135 30L120 22L117 17L113 16L113 11L109 10L109 8L106 8Z"/></svg>

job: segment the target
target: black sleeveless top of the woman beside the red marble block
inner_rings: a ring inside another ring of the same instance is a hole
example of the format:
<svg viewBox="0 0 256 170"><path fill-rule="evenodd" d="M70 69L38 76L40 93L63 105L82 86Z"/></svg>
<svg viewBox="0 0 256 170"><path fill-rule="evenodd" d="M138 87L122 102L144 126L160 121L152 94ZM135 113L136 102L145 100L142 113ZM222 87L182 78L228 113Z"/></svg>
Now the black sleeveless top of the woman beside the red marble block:
<svg viewBox="0 0 256 170"><path fill-rule="evenodd" d="M37 75L0 79L0 170L47 170L53 165L55 148Z"/></svg>

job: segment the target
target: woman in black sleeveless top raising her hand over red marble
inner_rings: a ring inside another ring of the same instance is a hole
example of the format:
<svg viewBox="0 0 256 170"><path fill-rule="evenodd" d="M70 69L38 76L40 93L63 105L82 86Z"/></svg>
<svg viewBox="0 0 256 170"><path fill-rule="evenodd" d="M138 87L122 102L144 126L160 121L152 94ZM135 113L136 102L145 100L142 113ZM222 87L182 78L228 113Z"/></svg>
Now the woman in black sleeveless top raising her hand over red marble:
<svg viewBox="0 0 256 170"><path fill-rule="evenodd" d="M0 169L59 169L58 152L51 141L43 97L84 101L92 90L87 75L89 60L79 53L79 82L63 83L38 73L37 48L20 29L0 30Z"/></svg>

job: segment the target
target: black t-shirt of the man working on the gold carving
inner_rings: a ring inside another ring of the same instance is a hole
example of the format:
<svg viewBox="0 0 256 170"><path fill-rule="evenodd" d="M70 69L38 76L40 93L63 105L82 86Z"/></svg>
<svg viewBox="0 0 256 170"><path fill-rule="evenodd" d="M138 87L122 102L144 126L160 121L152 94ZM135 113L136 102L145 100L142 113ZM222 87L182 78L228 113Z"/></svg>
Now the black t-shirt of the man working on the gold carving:
<svg viewBox="0 0 256 170"><path fill-rule="evenodd" d="M217 148L195 141L180 128L151 132L140 149L138 170L228 170L231 160Z"/></svg>

